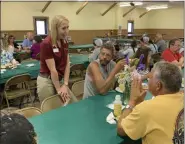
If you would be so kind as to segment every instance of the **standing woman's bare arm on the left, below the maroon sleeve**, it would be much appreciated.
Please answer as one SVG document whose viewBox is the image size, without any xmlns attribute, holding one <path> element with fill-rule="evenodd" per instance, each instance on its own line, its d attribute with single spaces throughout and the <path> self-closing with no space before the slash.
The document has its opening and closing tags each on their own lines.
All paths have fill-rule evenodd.
<svg viewBox="0 0 185 144">
<path fill-rule="evenodd" d="M 58 92 L 60 90 L 60 82 L 58 78 L 58 72 L 55 67 L 55 61 L 54 59 L 46 59 L 46 64 L 50 70 L 51 73 L 51 80 L 55 86 L 56 91 Z"/>
</svg>

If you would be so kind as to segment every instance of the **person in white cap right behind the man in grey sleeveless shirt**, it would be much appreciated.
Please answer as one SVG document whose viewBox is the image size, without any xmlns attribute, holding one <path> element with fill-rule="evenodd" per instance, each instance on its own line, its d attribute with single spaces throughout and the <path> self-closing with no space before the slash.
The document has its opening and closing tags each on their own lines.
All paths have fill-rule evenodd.
<svg viewBox="0 0 185 144">
<path fill-rule="evenodd" d="M 89 56 L 90 62 L 98 59 L 98 55 L 100 54 L 100 48 L 103 45 L 103 41 L 101 39 L 97 39 L 95 40 L 94 45 L 95 45 L 95 49 L 93 53 Z"/>
</svg>

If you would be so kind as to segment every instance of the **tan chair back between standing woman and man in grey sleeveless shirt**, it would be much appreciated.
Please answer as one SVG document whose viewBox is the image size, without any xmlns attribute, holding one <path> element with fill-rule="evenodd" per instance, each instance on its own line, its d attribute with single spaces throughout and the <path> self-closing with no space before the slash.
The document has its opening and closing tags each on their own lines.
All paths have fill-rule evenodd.
<svg viewBox="0 0 185 144">
<path fill-rule="evenodd" d="M 84 80 L 75 82 L 72 85 L 71 91 L 77 97 L 78 100 L 81 100 L 84 93 Z"/>
</svg>

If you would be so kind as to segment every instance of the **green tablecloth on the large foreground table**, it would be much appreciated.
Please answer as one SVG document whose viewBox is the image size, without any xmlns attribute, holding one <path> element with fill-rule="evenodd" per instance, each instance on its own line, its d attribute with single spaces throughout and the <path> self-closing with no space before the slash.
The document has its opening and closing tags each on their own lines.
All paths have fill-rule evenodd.
<svg viewBox="0 0 185 144">
<path fill-rule="evenodd" d="M 114 101 L 116 92 L 93 96 L 30 118 L 39 144 L 119 144 L 116 125 L 106 122 L 112 111 L 106 107 Z M 150 99 L 151 95 L 147 95 Z"/>
</svg>

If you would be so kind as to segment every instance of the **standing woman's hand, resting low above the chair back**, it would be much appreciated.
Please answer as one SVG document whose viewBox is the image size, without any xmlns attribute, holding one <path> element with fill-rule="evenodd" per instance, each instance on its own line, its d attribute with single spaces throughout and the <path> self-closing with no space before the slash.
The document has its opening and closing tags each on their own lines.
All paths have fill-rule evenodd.
<svg viewBox="0 0 185 144">
<path fill-rule="evenodd" d="M 58 90 L 58 94 L 60 94 L 63 103 L 67 102 L 70 99 L 68 87 L 66 85 L 61 86 L 61 88 Z"/>
</svg>

